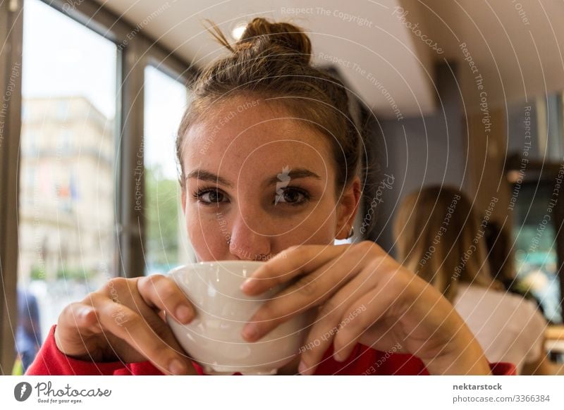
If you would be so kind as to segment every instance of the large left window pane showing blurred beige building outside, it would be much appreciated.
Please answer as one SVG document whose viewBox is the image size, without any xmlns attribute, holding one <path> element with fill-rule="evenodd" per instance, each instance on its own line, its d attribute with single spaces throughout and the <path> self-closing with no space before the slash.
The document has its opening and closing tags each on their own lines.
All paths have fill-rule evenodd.
<svg viewBox="0 0 564 410">
<path fill-rule="evenodd" d="M 25 0 L 16 349 L 114 275 L 116 46 Z"/>
</svg>

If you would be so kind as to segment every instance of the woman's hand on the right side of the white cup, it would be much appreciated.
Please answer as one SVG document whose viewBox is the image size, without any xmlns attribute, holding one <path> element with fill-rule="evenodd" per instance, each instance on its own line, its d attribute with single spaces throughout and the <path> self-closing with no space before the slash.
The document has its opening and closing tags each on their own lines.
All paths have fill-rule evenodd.
<svg viewBox="0 0 564 410">
<path fill-rule="evenodd" d="M 302 374 L 314 373 L 331 343 L 334 359 L 344 361 L 357 342 L 413 354 L 431 374 L 491 374 L 482 348 L 453 306 L 374 242 L 290 247 L 257 269 L 242 290 L 260 294 L 296 277 L 255 313 L 243 337 L 259 340 L 320 306 L 304 344 L 308 348 L 300 349 Z"/>
</svg>

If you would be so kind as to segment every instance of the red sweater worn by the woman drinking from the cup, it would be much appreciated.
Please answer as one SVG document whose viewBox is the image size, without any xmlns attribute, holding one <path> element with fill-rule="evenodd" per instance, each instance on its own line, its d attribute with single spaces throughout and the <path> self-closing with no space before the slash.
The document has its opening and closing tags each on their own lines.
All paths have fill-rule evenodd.
<svg viewBox="0 0 564 410">
<path fill-rule="evenodd" d="M 149 361 L 124 364 L 121 361 L 97 363 L 73 359 L 63 354 L 55 343 L 56 325 L 51 327 L 26 375 L 162 375 Z M 385 353 L 357 344 L 350 357 L 340 363 L 333 360 L 333 347 L 324 354 L 315 375 L 428 375 L 423 362 L 411 354 Z M 202 368 L 192 362 L 199 375 Z M 508 363 L 490 364 L 494 375 L 515 375 L 515 366 Z M 234 373 L 240 375 L 240 373 Z"/>
</svg>

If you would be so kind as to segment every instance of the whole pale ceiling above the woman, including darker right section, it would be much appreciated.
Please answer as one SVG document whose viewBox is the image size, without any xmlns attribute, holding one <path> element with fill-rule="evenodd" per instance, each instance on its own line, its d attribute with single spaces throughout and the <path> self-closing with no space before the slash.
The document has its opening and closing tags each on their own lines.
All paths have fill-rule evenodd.
<svg viewBox="0 0 564 410">
<path fill-rule="evenodd" d="M 474 111 L 479 93 L 460 42 L 467 43 L 485 79 L 491 106 L 525 99 L 525 90 L 527 98 L 543 94 L 545 84 L 563 89 L 564 3 L 519 1 L 111 0 L 104 6 L 133 25 L 145 20 L 143 32 L 199 67 L 228 52 L 205 30 L 206 18 L 226 35 L 257 16 L 293 22 L 312 39 L 316 63 L 340 58 L 337 66 L 353 92 L 379 116 L 395 118 L 393 102 L 404 117 L 434 111 L 432 65 L 444 58 L 459 62 L 466 109 Z M 403 20 L 399 6 L 408 11 Z M 443 54 L 424 44 L 407 22 L 418 24 Z"/>
</svg>

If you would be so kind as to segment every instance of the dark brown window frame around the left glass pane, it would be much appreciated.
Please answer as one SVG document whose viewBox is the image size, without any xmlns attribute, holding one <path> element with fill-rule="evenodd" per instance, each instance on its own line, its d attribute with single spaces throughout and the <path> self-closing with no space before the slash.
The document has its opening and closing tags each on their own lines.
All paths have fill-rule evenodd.
<svg viewBox="0 0 564 410">
<path fill-rule="evenodd" d="M 10 67 L 22 63 L 23 1 L 0 2 L 0 44 L 7 52 L 0 54 L 0 86 L 6 90 Z M 114 42 L 116 52 L 116 180 L 114 181 L 116 275 L 133 278 L 145 271 L 143 242 L 145 220 L 135 211 L 135 175 L 137 152 L 142 147 L 144 130 L 143 85 L 145 66 L 151 65 L 175 80 L 188 85 L 198 74 L 192 63 L 168 50 L 156 39 L 139 32 L 133 25 L 94 0 L 41 0 L 102 37 Z M 135 33 L 135 35 L 132 35 Z M 130 38 L 132 37 L 132 38 Z M 3 50 L 4 51 L 4 50 Z M 21 77 L 21 76 L 20 76 Z M 16 82 L 4 124 L 0 147 L 0 292 L 6 302 L 0 304 L 0 344 L 14 343 L 17 323 L 16 285 L 18 282 L 18 178 L 21 131 L 21 80 Z M 8 137 L 9 143 L 8 143 Z M 141 177 L 142 178 L 142 177 Z M 140 181 L 144 186 L 145 181 Z M 141 207 L 142 209 L 142 207 Z M 0 352 L 0 374 L 10 374 L 15 359 L 13 349 Z"/>
</svg>

